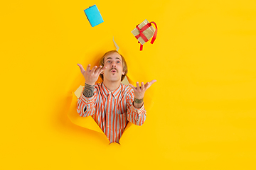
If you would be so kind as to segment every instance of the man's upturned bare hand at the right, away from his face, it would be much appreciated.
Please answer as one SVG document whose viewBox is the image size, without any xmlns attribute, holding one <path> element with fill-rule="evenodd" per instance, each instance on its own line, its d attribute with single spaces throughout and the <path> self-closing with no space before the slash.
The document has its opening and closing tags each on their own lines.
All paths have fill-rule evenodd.
<svg viewBox="0 0 256 170">
<path fill-rule="evenodd" d="M 132 89 L 134 89 L 134 98 L 135 100 L 142 100 L 144 98 L 144 94 L 146 89 L 149 89 L 149 87 L 154 84 L 154 82 L 156 82 L 156 80 L 152 80 L 150 82 L 147 82 L 145 85 L 142 82 L 142 86 L 139 86 L 139 82 L 137 82 L 137 87 L 133 86 L 132 84 L 129 84 L 129 86 L 132 87 Z"/>
</svg>

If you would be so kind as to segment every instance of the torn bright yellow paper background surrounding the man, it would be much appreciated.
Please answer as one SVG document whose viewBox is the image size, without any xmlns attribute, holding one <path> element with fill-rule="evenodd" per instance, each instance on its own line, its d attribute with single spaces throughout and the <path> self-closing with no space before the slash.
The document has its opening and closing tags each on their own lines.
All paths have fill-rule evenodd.
<svg viewBox="0 0 256 170">
<path fill-rule="evenodd" d="M 83 10 L 94 4 L 104 23 L 92 28 Z M 14 0 L 0 8 L 1 169 L 256 168 L 255 1 Z M 131 31 L 144 19 L 159 32 L 140 52 Z M 84 82 L 76 64 L 115 50 L 113 36 L 129 78 L 157 80 L 146 92 L 146 122 L 121 146 L 67 116 L 71 91 Z"/>
</svg>

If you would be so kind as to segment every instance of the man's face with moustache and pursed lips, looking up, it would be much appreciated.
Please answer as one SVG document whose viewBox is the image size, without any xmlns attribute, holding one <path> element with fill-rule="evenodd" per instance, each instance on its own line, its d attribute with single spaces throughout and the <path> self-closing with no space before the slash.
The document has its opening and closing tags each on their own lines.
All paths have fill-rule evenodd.
<svg viewBox="0 0 256 170">
<path fill-rule="evenodd" d="M 107 67 L 103 72 L 104 80 L 119 81 L 124 75 L 122 57 L 117 52 L 105 56 L 104 67 Z"/>
</svg>

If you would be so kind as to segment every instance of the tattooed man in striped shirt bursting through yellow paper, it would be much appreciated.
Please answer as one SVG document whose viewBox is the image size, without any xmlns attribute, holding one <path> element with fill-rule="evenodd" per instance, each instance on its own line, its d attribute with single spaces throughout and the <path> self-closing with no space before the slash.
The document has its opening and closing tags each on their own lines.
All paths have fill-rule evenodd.
<svg viewBox="0 0 256 170">
<path fill-rule="evenodd" d="M 121 81 L 127 74 L 127 63 L 116 50 L 106 52 L 100 60 L 100 66 L 83 69 L 78 64 L 85 77 L 85 88 L 78 98 L 77 111 L 80 116 L 92 115 L 97 125 L 107 136 L 110 143 L 117 142 L 124 132 L 128 121 L 134 125 L 142 125 L 146 120 L 143 98 L 146 89 L 156 80 L 137 87 L 124 85 Z M 95 84 L 98 77 L 102 84 Z"/>
</svg>

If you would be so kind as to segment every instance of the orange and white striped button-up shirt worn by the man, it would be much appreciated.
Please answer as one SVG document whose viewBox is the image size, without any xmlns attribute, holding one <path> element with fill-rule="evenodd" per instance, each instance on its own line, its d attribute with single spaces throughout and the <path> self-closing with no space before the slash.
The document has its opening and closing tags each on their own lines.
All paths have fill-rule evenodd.
<svg viewBox="0 0 256 170">
<path fill-rule="evenodd" d="M 103 83 L 95 84 L 92 97 L 81 94 L 78 98 L 77 111 L 82 117 L 92 115 L 110 143 L 119 143 L 128 121 L 142 125 L 146 120 L 144 105 L 135 108 L 133 101 L 134 91 L 127 85 L 120 84 L 116 90 L 110 91 Z"/>
</svg>

